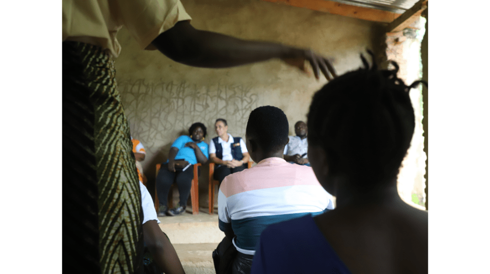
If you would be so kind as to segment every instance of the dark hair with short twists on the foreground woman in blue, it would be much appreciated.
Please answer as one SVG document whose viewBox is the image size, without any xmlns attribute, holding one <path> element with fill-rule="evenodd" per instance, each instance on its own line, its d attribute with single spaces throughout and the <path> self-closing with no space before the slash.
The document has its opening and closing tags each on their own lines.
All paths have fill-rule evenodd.
<svg viewBox="0 0 490 274">
<path fill-rule="evenodd" d="M 372 52 L 368 51 L 371 56 Z M 361 54 L 359 68 L 327 83 L 313 96 L 308 142 L 325 151 L 329 173 L 343 175 L 359 190 L 396 178 L 415 129 L 409 91 L 394 70 L 378 70 Z M 373 58 L 374 59 L 374 58 Z"/>
</svg>

